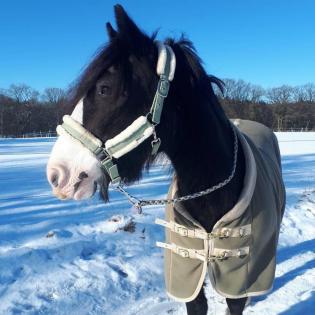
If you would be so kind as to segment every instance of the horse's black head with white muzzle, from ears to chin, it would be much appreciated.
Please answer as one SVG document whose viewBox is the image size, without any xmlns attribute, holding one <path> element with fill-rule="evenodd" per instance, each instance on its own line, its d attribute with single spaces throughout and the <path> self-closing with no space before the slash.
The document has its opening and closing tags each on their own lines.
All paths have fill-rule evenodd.
<svg viewBox="0 0 315 315">
<path fill-rule="evenodd" d="M 166 51 L 163 44 L 159 46 L 155 35 L 149 37 L 140 31 L 119 5 L 115 6 L 115 17 L 117 30 L 110 23 L 106 24 L 109 42 L 73 86 L 66 114 L 71 115 L 67 119 L 72 127 L 75 125 L 74 129 L 83 127 L 81 136 L 88 133 L 94 140 L 100 141 L 100 147 L 108 144 L 108 140 L 117 144 L 123 131 L 124 137 L 128 138 L 130 129 L 133 129 L 132 132 L 135 129 L 136 133 L 139 128 L 144 129 L 146 136 L 141 134 L 139 145 L 131 144 L 132 150 L 123 149 L 127 151 L 124 154 L 110 154 L 119 178 L 131 183 L 141 177 L 143 167 L 154 159 L 152 141 L 162 140 L 162 145 L 155 150 L 161 152 L 166 144 L 164 140 L 171 139 L 173 133 L 176 109 L 169 106 L 172 91 L 162 113 L 159 113 L 162 114 L 161 123 L 152 122 L 150 117 L 152 102 L 161 81 L 160 74 L 163 75 L 163 69 L 159 68 L 163 68 L 166 62 L 161 61 L 165 56 L 160 56 L 162 52 L 173 52 L 170 48 Z M 169 74 L 172 79 L 175 59 L 173 55 L 169 59 L 173 62 L 169 65 L 172 69 L 168 69 L 173 71 Z M 64 124 L 67 119 L 64 118 Z M 69 130 L 58 128 L 59 137 L 47 165 L 47 178 L 53 193 L 60 199 L 80 200 L 91 197 L 99 185 L 101 196 L 107 200 L 108 184 L 112 178 L 101 159 L 82 143 L 82 137 L 75 139 Z"/>
</svg>

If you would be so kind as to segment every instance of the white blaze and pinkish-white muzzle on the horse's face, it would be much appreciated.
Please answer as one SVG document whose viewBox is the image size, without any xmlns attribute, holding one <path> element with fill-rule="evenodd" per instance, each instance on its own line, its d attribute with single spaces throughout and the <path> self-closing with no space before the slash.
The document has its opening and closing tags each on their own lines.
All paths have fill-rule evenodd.
<svg viewBox="0 0 315 315">
<path fill-rule="evenodd" d="M 71 117 L 83 123 L 83 99 L 76 105 Z M 53 193 L 60 199 L 89 198 L 94 194 L 95 182 L 101 175 L 96 157 L 78 140 L 62 132 L 47 164 L 47 178 Z"/>
</svg>

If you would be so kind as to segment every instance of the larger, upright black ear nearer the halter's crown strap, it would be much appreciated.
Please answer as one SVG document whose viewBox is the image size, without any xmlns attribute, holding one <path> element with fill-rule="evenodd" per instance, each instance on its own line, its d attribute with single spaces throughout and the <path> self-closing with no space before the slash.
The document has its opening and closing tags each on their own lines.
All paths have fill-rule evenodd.
<svg viewBox="0 0 315 315">
<path fill-rule="evenodd" d="M 140 31 L 121 5 L 115 5 L 114 10 L 118 33 L 122 38 L 126 39 L 129 43 L 137 43 L 141 39 L 147 39 L 147 36 Z"/>
</svg>

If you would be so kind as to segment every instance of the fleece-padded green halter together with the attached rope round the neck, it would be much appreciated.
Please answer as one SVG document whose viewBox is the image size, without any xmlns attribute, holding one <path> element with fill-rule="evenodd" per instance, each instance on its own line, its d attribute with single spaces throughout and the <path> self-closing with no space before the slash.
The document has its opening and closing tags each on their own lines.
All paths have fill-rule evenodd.
<svg viewBox="0 0 315 315">
<path fill-rule="evenodd" d="M 172 199 L 139 200 L 130 195 L 123 188 L 123 182 L 119 175 L 118 166 L 115 163 L 115 160 L 137 148 L 151 136 L 153 137 L 151 141 L 151 154 L 155 155 L 161 144 L 161 139 L 156 135 L 155 127 L 160 123 L 164 100 L 168 95 L 170 82 L 174 78 L 176 58 L 170 46 L 165 45 L 162 42 L 156 42 L 156 45 L 159 54 L 156 72 L 160 78 L 150 112 L 147 115 L 138 117 L 126 129 L 104 143 L 83 127 L 83 99 L 81 99 L 73 110 L 71 116 L 63 116 L 63 124 L 57 126 L 57 134 L 59 136 L 62 134 L 70 135 L 96 156 L 100 161 L 101 167 L 109 175 L 111 184 L 114 188 L 124 194 L 139 212 L 141 212 L 142 206 L 146 205 L 174 204 L 176 202 L 208 195 L 213 191 L 224 187 L 232 180 L 237 165 L 238 138 L 235 127 L 231 124 L 234 136 L 233 167 L 229 177 L 222 182 L 203 191 Z"/>
</svg>

